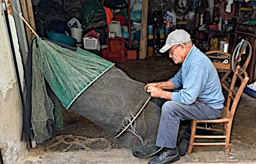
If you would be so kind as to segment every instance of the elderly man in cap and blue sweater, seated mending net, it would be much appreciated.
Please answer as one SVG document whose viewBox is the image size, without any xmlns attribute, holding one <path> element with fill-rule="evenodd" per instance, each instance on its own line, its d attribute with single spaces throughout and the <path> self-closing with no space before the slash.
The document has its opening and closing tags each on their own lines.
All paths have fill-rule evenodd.
<svg viewBox="0 0 256 164">
<path fill-rule="evenodd" d="M 174 63 L 182 65 L 169 81 L 145 86 L 152 97 L 168 100 L 162 106 L 156 142 L 157 147 L 165 150 L 148 164 L 169 164 L 180 159 L 176 146 L 180 120 L 216 119 L 224 107 L 217 71 L 209 58 L 192 44 L 190 35 L 184 30 L 173 31 L 160 52 L 167 50 Z"/>
</svg>

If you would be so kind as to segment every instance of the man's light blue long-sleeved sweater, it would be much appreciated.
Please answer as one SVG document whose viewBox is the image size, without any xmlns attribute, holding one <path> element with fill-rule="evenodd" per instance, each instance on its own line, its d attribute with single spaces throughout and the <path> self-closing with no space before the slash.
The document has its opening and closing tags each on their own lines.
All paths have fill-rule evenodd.
<svg viewBox="0 0 256 164">
<path fill-rule="evenodd" d="M 224 96 L 217 70 L 211 60 L 194 45 L 185 58 L 179 72 L 170 79 L 179 92 L 172 93 L 172 100 L 190 105 L 204 101 L 215 109 L 223 108 Z"/>
</svg>

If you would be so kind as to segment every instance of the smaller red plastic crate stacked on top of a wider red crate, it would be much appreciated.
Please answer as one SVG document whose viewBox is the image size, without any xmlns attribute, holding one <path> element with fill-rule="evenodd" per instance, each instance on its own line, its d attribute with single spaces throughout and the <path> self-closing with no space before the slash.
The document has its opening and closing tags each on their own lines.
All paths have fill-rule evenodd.
<svg viewBox="0 0 256 164">
<path fill-rule="evenodd" d="M 125 49 L 125 38 L 108 38 L 108 52 L 119 52 L 122 49 Z"/>
</svg>

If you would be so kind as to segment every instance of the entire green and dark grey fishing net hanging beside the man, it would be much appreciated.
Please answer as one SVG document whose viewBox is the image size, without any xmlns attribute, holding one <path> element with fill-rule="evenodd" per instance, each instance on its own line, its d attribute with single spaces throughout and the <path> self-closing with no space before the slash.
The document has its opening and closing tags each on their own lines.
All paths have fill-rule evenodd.
<svg viewBox="0 0 256 164">
<path fill-rule="evenodd" d="M 148 101 L 150 95 L 144 91 L 143 83 L 132 80 L 97 55 L 81 49 L 73 51 L 41 38 L 33 42 L 32 56 L 31 123 L 39 143 L 51 136 L 51 124 L 58 118 L 53 115 L 47 83 L 66 109 L 113 136 L 131 123 L 118 138 L 134 156 L 148 157 L 161 150 L 155 146 L 160 108 Z"/>
</svg>

